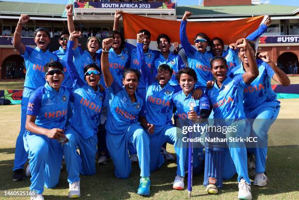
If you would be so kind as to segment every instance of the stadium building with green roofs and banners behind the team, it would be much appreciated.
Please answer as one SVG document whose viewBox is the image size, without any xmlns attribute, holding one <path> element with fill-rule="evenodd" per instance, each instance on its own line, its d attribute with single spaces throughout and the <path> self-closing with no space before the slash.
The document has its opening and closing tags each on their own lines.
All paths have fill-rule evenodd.
<svg viewBox="0 0 299 200">
<path fill-rule="evenodd" d="M 31 19 L 21 32 L 22 42 L 34 47 L 34 30 L 43 26 L 51 35 L 49 49 L 55 51 L 59 48 L 59 32 L 67 29 L 64 6 L 63 4 L 0 1 L 0 80 L 24 78 L 23 59 L 12 45 L 12 34 L 20 15 L 28 14 Z M 260 38 L 258 52 L 268 51 L 278 66 L 285 69 L 289 61 L 298 61 L 299 8 L 296 6 L 261 4 L 259 0 L 220 2 L 203 0 L 203 5 L 200 6 L 175 6 L 174 1 L 167 0 L 74 2 L 75 27 L 84 35 L 81 42 L 85 43 L 89 36 L 105 38 L 113 28 L 116 9 L 165 20 L 181 20 L 185 10 L 188 10 L 193 13 L 189 21 L 194 22 L 237 20 L 269 15 L 272 18 L 272 25 Z"/>
</svg>

